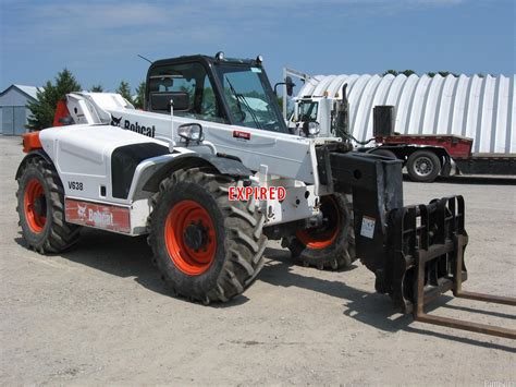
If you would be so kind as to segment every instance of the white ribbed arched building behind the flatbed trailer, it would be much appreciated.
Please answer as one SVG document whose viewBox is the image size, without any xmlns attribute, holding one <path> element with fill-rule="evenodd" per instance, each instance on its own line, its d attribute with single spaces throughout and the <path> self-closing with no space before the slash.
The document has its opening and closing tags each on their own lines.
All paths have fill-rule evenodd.
<svg viewBox="0 0 516 387">
<path fill-rule="evenodd" d="M 392 105 L 395 131 L 474 138 L 474 153 L 516 153 L 515 78 L 435 75 L 318 75 L 298 96 L 329 97 L 347 83 L 349 126 L 358 140 L 372 136 L 372 108 Z"/>
</svg>

